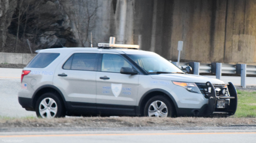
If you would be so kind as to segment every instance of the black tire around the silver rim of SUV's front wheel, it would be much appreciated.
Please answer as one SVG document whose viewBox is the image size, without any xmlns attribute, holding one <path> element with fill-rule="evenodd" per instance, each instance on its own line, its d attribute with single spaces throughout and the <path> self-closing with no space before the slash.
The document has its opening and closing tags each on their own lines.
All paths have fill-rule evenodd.
<svg viewBox="0 0 256 143">
<path fill-rule="evenodd" d="M 165 115 L 166 115 L 166 113 L 167 113 L 167 116 L 166 117 L 174 117 L 174 110 L 173 110 L 173 106 L 172 106 L 172 103 L 170 103 L 170 101 L 166 98 L 166 97 L 164 97 L 164 96 L 160 96 L 160 95 L 158 95 L 158 96 L 154 96 L 154 97 L 152 97 L 151 99 L 149 99 L 147 102 L 146 102 L 146 104 L 145 104 L 145 107 L 144 107 L 144 116 L 145 117 L 148 117 L 149 115 L 148 115 L 148 112 L 150 111 L 150 110 L 153 110 L 154 109 L 154 107 L 151 105 L 151 104 L 153 104 L 153 103 L 157 103 L 157 104 L 162 104 L 161 102 L 163 102 L 165 105 L 166 105 L 166 108 L 164 108 L 162 111 L 160 111 L 160 110 L 157 110 L 156 112 L 158 112 L 158 117 L 163 117 L 162 115 L 164 115 L 163 113 L 165 112 Z M 163 104 L 163 105 L 164 105 Z M 151 109 L 149 110 L 149 108 L 150 108 L 150 106 L 151 106 Z M 158 106 L 158 105 L 157 105 Z M 161 107 L 161 106 L 160 106 Z M 167 109 L 167 111 L 166 111 L 166 109 Z M 152 112 L 153 113 L 153 112 Z M 165 116 L 164 115 L 164 116 Z M 150 116 L 150 117 L 156 117 L 156 116 Z"/>
</svg>

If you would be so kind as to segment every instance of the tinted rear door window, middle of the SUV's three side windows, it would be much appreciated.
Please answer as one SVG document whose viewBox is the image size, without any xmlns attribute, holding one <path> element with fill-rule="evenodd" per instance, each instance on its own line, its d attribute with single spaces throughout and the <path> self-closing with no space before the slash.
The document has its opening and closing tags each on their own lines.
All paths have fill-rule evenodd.
<svg viewBox="0 0 256 143">
<path fill-rule="evenodd" d="M 66 70 L 94 71 L 97 53 L 74 53 L 63 65 Z"/>
</svg>

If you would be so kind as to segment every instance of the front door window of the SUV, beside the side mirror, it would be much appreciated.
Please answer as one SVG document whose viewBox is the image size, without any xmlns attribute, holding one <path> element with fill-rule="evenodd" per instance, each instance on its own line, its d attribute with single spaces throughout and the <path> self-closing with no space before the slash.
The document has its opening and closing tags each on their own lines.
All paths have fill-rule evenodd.
<svg viewBox="0 0 256 143">
<path fill-rule="evenodd" d="M 101 71 L 120 73 L 122 67 L 132 68 L 129 63 L 117 54 L 103 54 Z"/>
</svg>

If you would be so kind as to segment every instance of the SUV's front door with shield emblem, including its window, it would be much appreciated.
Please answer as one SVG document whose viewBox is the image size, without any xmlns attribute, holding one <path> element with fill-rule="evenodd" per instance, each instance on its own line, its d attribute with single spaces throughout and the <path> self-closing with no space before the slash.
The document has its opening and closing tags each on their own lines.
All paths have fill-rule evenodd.
<svg viewBox="0 0 256 143">
<path fill-rule="evenodd" d="M 97 106 L 101 113 L 119 114 L 121 109 L 132 114 L 138 93 L 138 75 L 121 74 L 122 67 L 133 68 L 131 63 L 116 52 L 101 54 L 100 70 L 97 72 Z M 118 113 L 119 112 L 119 113 Z"/>
</svg>

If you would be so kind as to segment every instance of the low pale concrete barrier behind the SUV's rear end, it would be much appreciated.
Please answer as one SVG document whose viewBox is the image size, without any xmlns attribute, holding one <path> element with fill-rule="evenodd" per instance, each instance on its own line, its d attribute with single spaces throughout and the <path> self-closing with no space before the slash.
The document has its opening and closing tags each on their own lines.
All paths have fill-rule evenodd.
<svg viewBox="0 0 256 143">
<path fill-rule="evenodd" d="M 27 65 L 36 54 L 0 52 L 0 64 L 24 64 Z"/>
</svg>

